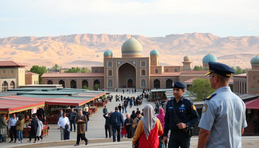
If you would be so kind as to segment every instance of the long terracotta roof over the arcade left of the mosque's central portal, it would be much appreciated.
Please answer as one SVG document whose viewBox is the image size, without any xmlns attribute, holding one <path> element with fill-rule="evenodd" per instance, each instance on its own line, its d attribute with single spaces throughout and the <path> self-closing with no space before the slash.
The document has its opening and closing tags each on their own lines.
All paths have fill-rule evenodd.
<svg viewBox="0 0 259 148">
<path fill-rule="evenodd" d="M 104 77 L 104 73 L 44 73 L 41 77 Z"/>
</svg>

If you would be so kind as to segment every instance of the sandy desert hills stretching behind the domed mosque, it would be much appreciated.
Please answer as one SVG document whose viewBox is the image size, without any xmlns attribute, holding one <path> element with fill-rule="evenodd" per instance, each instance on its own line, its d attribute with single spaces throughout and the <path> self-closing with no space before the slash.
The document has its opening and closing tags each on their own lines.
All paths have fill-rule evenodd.
<svg viewBox="0 0 259 148">
<path fill-rule="evenodd" d="M 189 55 L 192 66 L 201 65 L 211 52 L 219 62 L 230 66 L 250 67 L 250 59 L 259 52 L 258 36 L 218 37 L 211 33 L 170 34 L 165 37 L 133 35 L 143 47 L 143 57 L 156 48 L 161 65 L 182 65 Z M 28 65 L 62 67 L 103 66 L 103 52 L 109 48 L 113 57 L 121 57 L 121 45 L 129 34 L 72 34 L 58 37 L 0 38 L 0 59 Z M 97 57 L 99 55 L 99 57 Z M 96 62 L 95 62 L 96 61 Z"/>
</svg>

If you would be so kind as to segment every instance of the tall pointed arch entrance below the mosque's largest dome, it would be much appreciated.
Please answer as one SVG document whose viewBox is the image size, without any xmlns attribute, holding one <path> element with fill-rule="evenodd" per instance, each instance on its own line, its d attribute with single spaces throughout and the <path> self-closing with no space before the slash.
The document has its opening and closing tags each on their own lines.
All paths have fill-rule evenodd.
<svg viewBox="0 0 259 148">
<path fill-rule="evenodd" d="M 118 88 L 127 88 L 137 87 L 136 84 L 136 68 L 128 62 L 120 65 L 118 67 Z"/>
</svg>

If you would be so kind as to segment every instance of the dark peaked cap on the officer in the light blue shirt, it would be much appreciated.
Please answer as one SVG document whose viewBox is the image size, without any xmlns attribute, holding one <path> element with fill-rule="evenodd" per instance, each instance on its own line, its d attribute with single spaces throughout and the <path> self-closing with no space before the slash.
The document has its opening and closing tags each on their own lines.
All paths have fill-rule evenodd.
<svg viewBox="0 0 259 148">
<path fill-rule="evenodd" d="M 209 62 L 209 72 L 206 73 L 206 75 L 209 75 L 211 73 L 215 73 L 224 77 L 230 77 L 231 74 L 235 73 L 235 71 L 225 64 L 218 62 Z"/>
</svg>

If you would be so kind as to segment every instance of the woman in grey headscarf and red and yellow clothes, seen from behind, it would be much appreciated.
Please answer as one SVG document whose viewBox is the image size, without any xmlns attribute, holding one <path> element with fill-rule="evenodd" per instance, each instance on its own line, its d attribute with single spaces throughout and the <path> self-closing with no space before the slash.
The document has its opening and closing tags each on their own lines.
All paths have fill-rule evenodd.
<svg viewBox="0 0 259 148">
<path fill-rule="evenodd" d="M 158 136 L 163 135 L 162 125 L 156 117 L 153 116 L 154 109 L 150 104 L 144 107 L 144 116 L 139 121 L 132 140 L 132 147 L 139 139 L 139 148 L 159 147 Z"/>
</svg>

